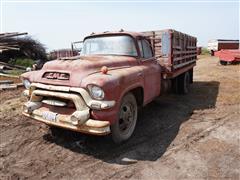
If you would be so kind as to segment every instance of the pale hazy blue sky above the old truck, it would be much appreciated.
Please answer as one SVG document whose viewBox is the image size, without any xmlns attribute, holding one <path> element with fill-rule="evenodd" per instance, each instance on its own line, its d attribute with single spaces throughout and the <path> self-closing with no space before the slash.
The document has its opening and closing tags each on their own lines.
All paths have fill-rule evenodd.
<svg viewBox="0 0 240 180">
<path fill-rule="evenodd" d="M 70 48 L 92 32 L 120 29 L 175 29 L 197 37 L 199 46 L 210 39 L 239 39 L 238 0 L 79 1 L 0 0 L 0 29 L 28 32 L 48 51 Z"/>
</svg>

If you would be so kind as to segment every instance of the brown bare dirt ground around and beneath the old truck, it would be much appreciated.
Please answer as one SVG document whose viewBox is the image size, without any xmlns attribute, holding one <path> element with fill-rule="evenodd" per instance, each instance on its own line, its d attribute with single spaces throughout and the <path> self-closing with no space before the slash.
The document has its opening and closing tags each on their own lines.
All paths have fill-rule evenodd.
<svg viewBox="0 0 240 180">
<path fill-rule="evenodd" d="M 1 93 L 0 179 L 240 179 L 240 66 L 202 56 L 188 95 L 158 98 L 133 137 L 49 128 L 21 115 L 21 89 Z"/>
</svg>

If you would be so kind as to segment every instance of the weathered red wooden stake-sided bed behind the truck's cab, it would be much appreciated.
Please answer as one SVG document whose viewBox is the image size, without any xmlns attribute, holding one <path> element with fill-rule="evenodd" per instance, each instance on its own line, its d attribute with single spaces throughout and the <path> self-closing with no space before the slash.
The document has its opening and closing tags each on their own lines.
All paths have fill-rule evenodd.
<svg viewBox="0 0 240 180">
<path fill-rule="evenodd" d="M 166 78 L 175 77 L 196 65 L 197 39 L 173 29 L 142 32 L 150 39 Z"/>
</svg>

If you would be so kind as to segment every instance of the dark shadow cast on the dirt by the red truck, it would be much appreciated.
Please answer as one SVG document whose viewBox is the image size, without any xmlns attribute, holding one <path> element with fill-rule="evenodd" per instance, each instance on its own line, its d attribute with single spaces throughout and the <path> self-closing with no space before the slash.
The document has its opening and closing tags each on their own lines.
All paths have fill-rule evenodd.
<svg viewBox="0 0 240 180">
<path fill-rule="evenodd" d="M 139 113 L 133 137 L 116 145 L 110 137 L 96 137 L 63 130 L 44 139 L 71 151 L 93 156 L 108 163 L 129 164 L 137 161 L 155 161 L 169 148 L 183 122 L 194 111 L 214 108 L 219 82 L 194 82 L 188 95 L 169 94 L 148 104 Z"/>
</svg>

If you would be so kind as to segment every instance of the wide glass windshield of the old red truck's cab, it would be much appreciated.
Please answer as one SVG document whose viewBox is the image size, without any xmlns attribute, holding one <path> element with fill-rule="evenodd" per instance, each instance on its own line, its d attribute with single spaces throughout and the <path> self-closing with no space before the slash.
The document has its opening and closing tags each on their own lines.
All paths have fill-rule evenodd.
<svg viewBox="0 0 240 180">
<path fill-rule="evenodd" d="M 137 56 L 137 50 L 130 36 L 103 36 L 84 41 L 81 55 L 94 54 Z"/>
</svg>

